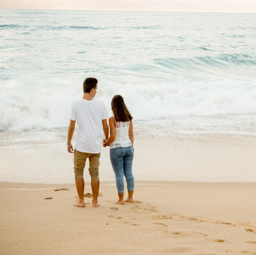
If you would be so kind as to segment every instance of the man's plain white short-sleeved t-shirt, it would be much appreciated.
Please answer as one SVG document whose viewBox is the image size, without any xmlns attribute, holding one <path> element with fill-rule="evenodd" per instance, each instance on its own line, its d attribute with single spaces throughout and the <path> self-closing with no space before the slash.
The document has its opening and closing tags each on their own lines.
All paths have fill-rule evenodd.
<svg viewBox="0 0 256 255">
<path fill-rule="evenodd" d="M 102 120 L 107 118 L 104 102 L 83 98 L 73 101 L 70 119 L 77 121 L 79 126 L 75 149 L 85 153 L 100 153 Z"/>
</svg>

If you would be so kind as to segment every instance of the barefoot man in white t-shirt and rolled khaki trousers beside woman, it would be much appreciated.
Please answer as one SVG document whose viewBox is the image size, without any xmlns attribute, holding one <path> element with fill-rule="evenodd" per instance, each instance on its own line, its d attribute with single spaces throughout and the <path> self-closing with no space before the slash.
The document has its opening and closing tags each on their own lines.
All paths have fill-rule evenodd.
<svg viewBox="0 0 256 255">
<path fill-rule="evenodd" d="M 92 185 L 92 206 L 98 207 L 98 166 L 102 146 L 101 125 L 108 139 L 108 113 L 103 102 L 97 101 L 94 96 L 97 93 L 96 78 L 86 78 L 83 83 L 84 96 L 72 102 L 71 120 L 68 128 L 67 151 L 74 153 L 74 172 L 79 196 L 79 202 L 74 204 L 78 207 L 85 207 L 84 202 L 84 168 L 85 161 L 89 159 L 89 173 L 91 175 Z M 73 150 L 71 140 L 74 134 L 75 123 L 78 123 L 79 129 L 76 138 L 75 149 Z"/>
</svg>

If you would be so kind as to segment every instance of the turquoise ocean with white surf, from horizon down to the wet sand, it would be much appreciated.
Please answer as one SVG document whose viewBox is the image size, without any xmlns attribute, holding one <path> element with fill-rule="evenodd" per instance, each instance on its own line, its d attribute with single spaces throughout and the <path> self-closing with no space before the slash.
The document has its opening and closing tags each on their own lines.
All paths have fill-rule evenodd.
<svg viewBox="0 0 256 255">
<path fill-rule="evenodd" d="M 256 13 L 1 9 L 0 146 L 68 127 L 86 77 L 135 134 L 255 136 Z"/>
</svg>

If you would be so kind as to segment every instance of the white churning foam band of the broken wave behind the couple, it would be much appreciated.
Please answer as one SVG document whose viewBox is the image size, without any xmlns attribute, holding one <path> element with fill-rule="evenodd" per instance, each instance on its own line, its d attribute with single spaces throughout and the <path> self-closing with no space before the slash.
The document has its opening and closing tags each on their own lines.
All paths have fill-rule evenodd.
<svg viewBox="0 0 256 255">
<path fill-rule="evenodd" d="M 256 113 L 256 81 L 214 83 L 126 84 L 99 87 L 96 99 L 109 115 L 112 96 L 125 99 L 134 120 L 154 120 L 187 115 Z M 15 92 L 0 98 L 0 130 L 22 131 L 67 127 L 71 103 L 82 97 L 82 88 L 26 94 Z"/>
</svg>

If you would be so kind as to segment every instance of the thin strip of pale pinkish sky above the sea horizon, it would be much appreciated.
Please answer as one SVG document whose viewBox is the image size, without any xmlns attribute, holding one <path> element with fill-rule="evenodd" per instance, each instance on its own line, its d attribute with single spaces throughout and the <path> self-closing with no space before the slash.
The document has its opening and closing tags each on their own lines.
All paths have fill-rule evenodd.
<svg viewBox="0 0 256 255">
<path fill-rule="evenodd" d="M 256 13 L 256 0 L 0 0 L 0 8 Z"/>
</svg>

